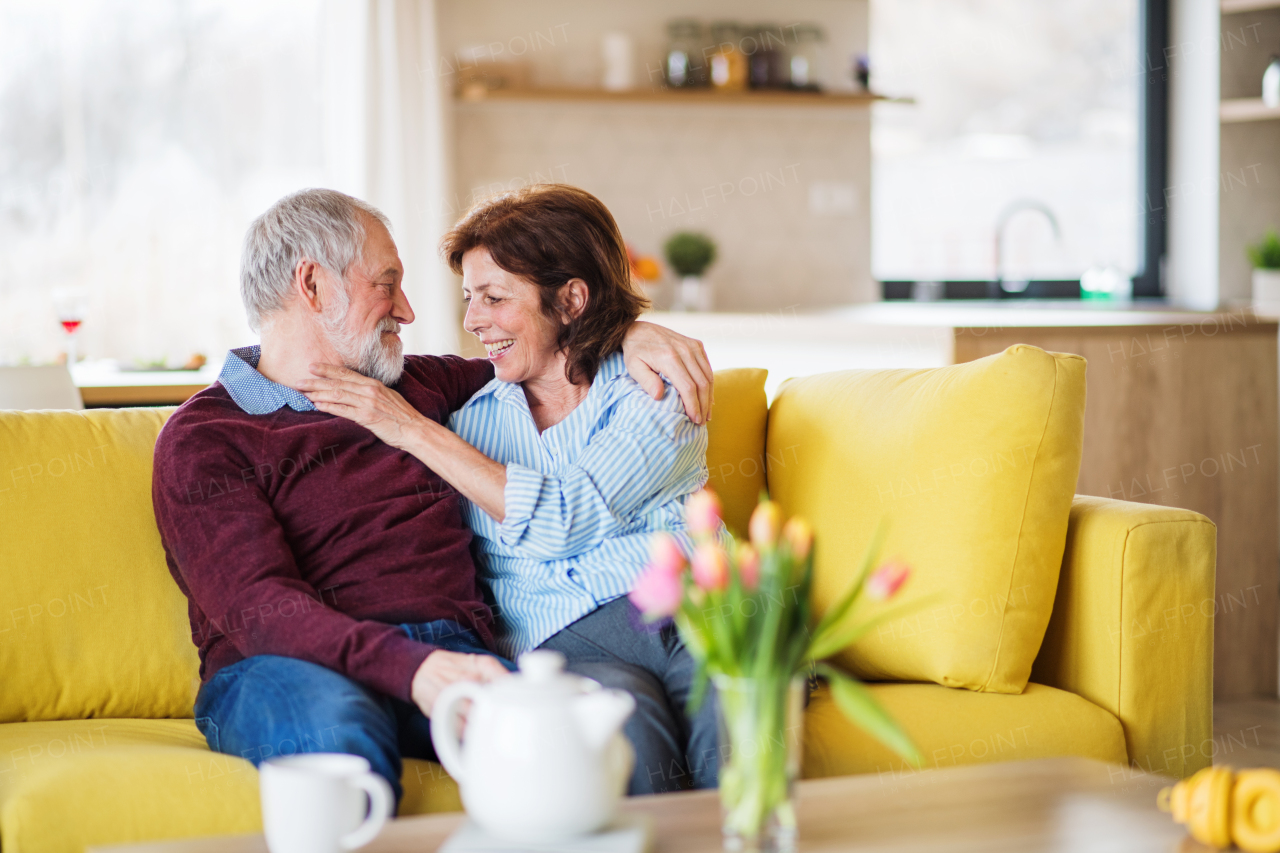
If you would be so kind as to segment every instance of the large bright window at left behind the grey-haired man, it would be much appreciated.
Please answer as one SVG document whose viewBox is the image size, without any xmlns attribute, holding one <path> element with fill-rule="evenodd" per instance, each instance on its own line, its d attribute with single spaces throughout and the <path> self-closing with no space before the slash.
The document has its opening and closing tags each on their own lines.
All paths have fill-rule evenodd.
<svg viewBox="0 0 1280 853">
<path fill-rule="evenodd" d="M 250 339 L 246 223 L 323 182 L 319 0 L 0 4 L 0 362 Z"/>
</svg>

